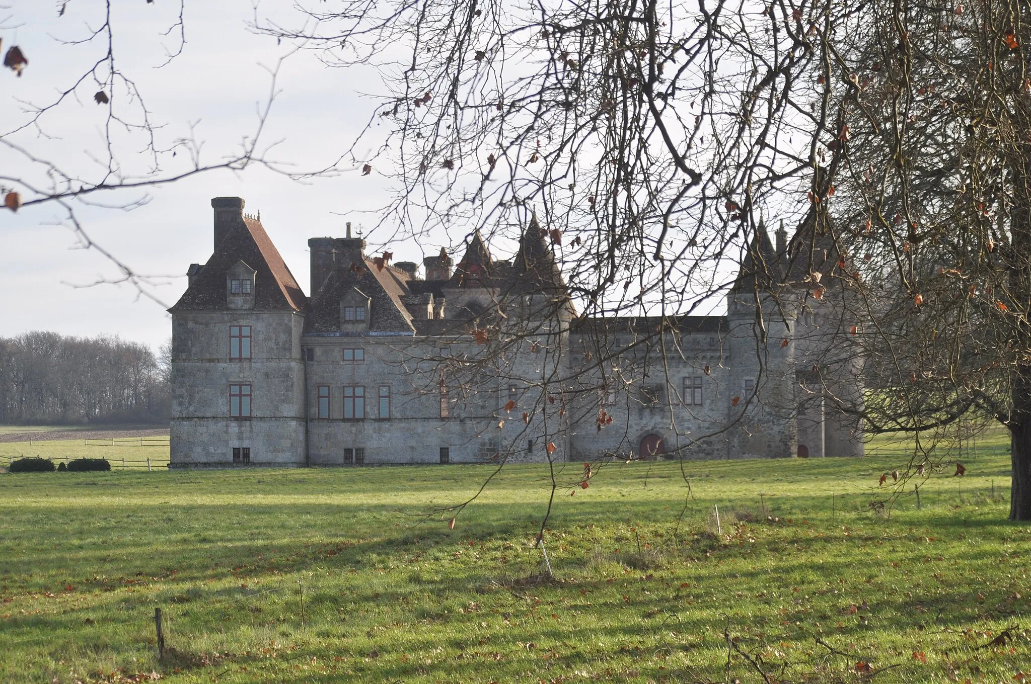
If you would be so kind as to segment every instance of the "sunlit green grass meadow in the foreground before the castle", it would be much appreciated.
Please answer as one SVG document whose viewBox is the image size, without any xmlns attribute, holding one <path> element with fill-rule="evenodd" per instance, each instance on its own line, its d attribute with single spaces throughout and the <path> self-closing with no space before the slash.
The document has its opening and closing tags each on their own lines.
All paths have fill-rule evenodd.
<svg viewBox="0 0 1031 684">
<path fill-rule="evenodd" d="M 554 581 L 545 467 L 454 529 L 421 514 L 484 467 L 4 475 L 0 681 L 1011 684 L 1031 527 L 1005 521 L 1001 439 L 979 446 L 890 516 L 885 445 L 688 463 L 687 500 L 677 464 L 606 466 L 557 498 Z"/>
</svg>

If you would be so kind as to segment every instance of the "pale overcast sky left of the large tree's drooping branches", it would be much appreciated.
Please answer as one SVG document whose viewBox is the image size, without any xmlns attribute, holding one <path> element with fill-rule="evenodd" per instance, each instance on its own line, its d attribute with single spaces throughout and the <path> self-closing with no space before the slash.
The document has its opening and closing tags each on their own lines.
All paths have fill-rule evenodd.
<svg viewBox="0 0 1031 684">
<path fill-rule="evenodd" d="M 54 37 L 80 38 L 87 26 L 102 21 L 99 0 L 72 0 L 58 18 L 54 0 L 5 0 L 0 9 L 3 50 L 14 44 L 29 60 L 24 75 L 0 73 L 0 128 L 6 133 L 26 121 L 18 100 L 43 104 L 68 88 L 98 57 L 99 48 L 62 46 Z M 218 160 L 238 147 L 242 135 L 255 130 L 256 109 L 269 91 L 272 67 L 287 54 L 274 38 L 255 35 L 246 22 L 254 16 L 251 0 L 190 2 L 186 8 L 187 45 L 184 54 L 162 68 L 173 37 L 160 33 L 174 23 L 173 0 L 114 3 L 117 58 L 146 99 L 154 119 L 165 126 L 164 140 L 186 136 L 196 124 L 195 136 L 204 143 L 205 159 Z M 280 19 L 298 19 L 288 2 L 273 7 Z M 269 3 L 259 7 L 268 14 Z M 282 65 L 280 93 L 272 105 L 264 140 L 281 140 L 270 156 L 299 169 L 319 168 L 334 161 L 355 138 L 373 109 L 365 94 L 381 87 L 374 74 L 328 69 L 310 54 L 295 54 Z M 16 140 L 47 159 L 87 169 L 87 152 L 102 152 L 104 107 L 92 101 L 95 87 L 79 89 L 79 101 L 70 100 L 44 119 L 43 139 L 23 132 Z M 138 161 L 141 141 L 127 141 L 120 152 L 126 167 Z M 10 150 L 0 148 L 0 168 L 23 166 Z M 172 167 L 169 167 L 172 168 Z M 89 169 L 87 169 L 89 170 Z M 10 175 L 14 175 L 11 173 Z M 214 171 L 189 180 L 148 190 L 94 196 L 112 205 L 137 199 L 145 204 L 131 211 L 80 207 L 91 236 L 139 272 L 181 276 L 191 262 L 203 263 L 211 252 L 210 199 L 239 196 L 248 213 L 260 210 L 262 223 L 305 290 L 308 288 L 306 242 L 309 237 L 342 236 L 346 220 L 371 224 L 362 211 L 374 210 L 387 199 L 385 180 L 355 170 L 336 178 L 308 183 L 293 181 L 264 169 L 240 175 Z M 128 285 L 75 288 L 64 283 L 89 283 L 98 277 L 117 277 L 118 270 L 96 251 L 75 248 L 71 231 L 60 224 L 60 207 L 23 208 L 18 214 L 0 211 L 0 336 L 30 330 L 53 330 L 66 335 L 118 334 L 158 345 L 170 335 L 164 308 L 137 297 Z M 421 261 L 420 247 L 392 245 L 396 261 Z M 439 249 L 439 246 L 437 246 Z M 409 253 L 411 252 L 411 253 Z M 154 290 L 168 305 L 186 287 L 186 278 L 170 279 Z"/>
</svg>

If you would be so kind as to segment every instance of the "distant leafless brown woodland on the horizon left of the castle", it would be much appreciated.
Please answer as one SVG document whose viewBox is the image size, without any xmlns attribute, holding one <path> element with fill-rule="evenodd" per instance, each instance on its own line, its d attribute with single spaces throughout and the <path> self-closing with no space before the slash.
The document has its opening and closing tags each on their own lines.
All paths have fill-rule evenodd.
<svg viewBox="0 0 1031 684">
<path fill-rule="evenodd" d="M 0 337 L 0 423 L 156 422 L 170 408 L 167 352 L 118 337 Z"/>
</svg>

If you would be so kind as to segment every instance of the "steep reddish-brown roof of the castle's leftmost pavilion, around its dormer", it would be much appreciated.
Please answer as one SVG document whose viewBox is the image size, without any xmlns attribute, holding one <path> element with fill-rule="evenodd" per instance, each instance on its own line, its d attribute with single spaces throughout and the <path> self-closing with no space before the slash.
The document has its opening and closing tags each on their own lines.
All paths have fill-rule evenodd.
<svg viewBox="0 0 1031 684">
<path fill-rule="evenodd" d="M 171 309 L 214 311 L 226 308 L 226 272 L 244 262 L 256 271 L 256 311 L 303 311 L 307 298 L 272 244 L 261 221 L 241 216 L 219 243 L 200 273 Z"/>
</svg>

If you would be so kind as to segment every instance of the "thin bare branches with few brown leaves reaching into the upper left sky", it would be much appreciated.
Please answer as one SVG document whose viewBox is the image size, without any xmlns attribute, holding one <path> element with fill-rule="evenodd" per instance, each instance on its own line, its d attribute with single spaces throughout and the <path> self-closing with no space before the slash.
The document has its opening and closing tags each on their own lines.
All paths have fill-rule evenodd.
<svg viewBox="0 0 1031 684">
<path fill-rule="evenodd" d="M 79 245 L 102 253 L 118 271 L 115 277 L 92 284 L 129 283 L 159 304 L 163 303 L 151 286 L 167 282 L 168 276 L 139 273 L 108 246 L 94 241 L 80 218 L 81 208 L 133 209 L 145 204 L 148 189 L 218 170 L 241 172 L 264 166 L 285 171 L 282 165 L 268 159 L 272 143 L 266 142 L 264 134 L 277 92 L 278 65 L 270 70 L 269 90 L 254 129 L 241 133 L 235 147 L 225 152 L 204 152 L 203 141 L 194 135 L 192 126 L 185 134 L 169 134 L 161 113 L 148 106 L 146 74 L 175 60 L 186 48 L 185 10 L 186 0 L 179 0 L 174 19 L 146 27 L 156 39 L 170 44 L 162 64 L 141 64 L 129 47 L 141 30 L 129 7 L 111 0 L 57 3 L 55 11 L 67 33 L 53 37 L 53 46 L 74 49 L 82 66 L 71 72 L 67 82 L 52 83 L 55 94 L 40 102 L 28 101 L 20 86 L 34 78 L 34 63 L 45 57 L 27 54 L 18 44 L 0 45 L 4 94 L 21 114 L 6 119 L 0 128 L 0 148 L 6 150 L 0 196 L 6 208 L 18 211 L 36 205 L 55 206 Z M 16 36 L 13 29 L 22 35 L 42 30 L 25 23 L 16 10 L 0 15 L 0 35 Z M 86 142 L 85 149 L 48 144 L 60 136 L 54 130 L 60 117 L 74 116 L 76 110 L 90 106 L 104 111 L 98 143 Z"/>
</svg>

